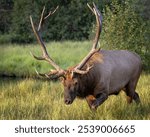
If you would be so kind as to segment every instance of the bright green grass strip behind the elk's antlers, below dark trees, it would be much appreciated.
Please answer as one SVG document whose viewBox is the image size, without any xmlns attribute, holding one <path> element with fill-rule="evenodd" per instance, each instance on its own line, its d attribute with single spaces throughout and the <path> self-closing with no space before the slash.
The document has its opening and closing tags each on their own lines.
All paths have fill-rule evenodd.
<svg viewBox="0 0 150 137">
<path fill-rule="evenodd" d="M 89 42 L 51 42 L 47 43 L 49 55 L 63 69 L 77 64 L 89 51 Z M 0 75 L 17 77 L 35 77 L 35 68 L 47 72 L 51 66 L 44 61 L 37 61 L 30 51 L 41 56 L 39 45 L 2 45 L 0 46 Z"/>
</svg>

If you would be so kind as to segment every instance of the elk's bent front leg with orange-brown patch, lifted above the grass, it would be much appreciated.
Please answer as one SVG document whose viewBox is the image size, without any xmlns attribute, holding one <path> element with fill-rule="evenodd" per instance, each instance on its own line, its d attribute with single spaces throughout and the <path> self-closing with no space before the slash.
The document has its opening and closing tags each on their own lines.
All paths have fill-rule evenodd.
<svg viewBox="0 0 150 137">
<path fill-rule="evenodd" d="M 107 94 L 100 93 L 96 95 L 96 97 L 93 95 L 87 96 L 86 101 L 91 109 L 96 110 L 97 107 L 101 105 L 107 98 L 108 98 Z"/>
</svg>

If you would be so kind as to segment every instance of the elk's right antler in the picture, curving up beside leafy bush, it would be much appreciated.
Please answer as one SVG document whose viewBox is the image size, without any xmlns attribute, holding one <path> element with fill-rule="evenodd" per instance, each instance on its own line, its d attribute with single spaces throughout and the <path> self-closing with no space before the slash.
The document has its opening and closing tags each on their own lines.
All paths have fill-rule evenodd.
<svg viewBox="0 0 150 137">
<path fill-rule="evenodd" d="M 96 30 L 96 35 L 95 35 L 92 49 L 87 54 L 87 56 L 84 57 L 83 60 L 74 68 L 74 72 L 79 74 L 86 74 L 93 67 L 93 66 L 88 66 L 86 70 L 82 70 L 83 66 L 87 63 L 90 57 L 100 50 L 100 48 L 97 49 L 97 45 L 102 30 L 102 16 L 94 3 L 93 3 L 93 8 L 89 4 L 87 4 L 87 6 L 96 16 L 97 30 Z"/>
</svg>

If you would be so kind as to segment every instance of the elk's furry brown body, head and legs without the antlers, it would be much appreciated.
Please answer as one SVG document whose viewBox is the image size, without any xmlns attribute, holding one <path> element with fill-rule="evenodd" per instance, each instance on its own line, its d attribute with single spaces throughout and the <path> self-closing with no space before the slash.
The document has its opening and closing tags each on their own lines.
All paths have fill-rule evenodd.
<svg viewBox="0 0 150 137">
<path fill-rule="evenodd" d="M 120 74 L 118 75 L 113 74 L 117 72 L 115 69 L 119 68 L 117 65 L 119 63 L 121 52 L 123 52 L 123 54 L 127 54 L 127 57 L 125 57 L 126 59 L 121 60 L 120 67 L 121 65 L 124 65 L 122 62 L 126 63 L 128 66 L 125 65 L 125 69 L 122 70 L 123 74 L 121 72 L 119 72 Z M 69 68 L 68 71 L 66 71 L 65 79 L 63 80 L 65 89 L 64 99 L 66 104 L 71 104 L 77 96 L 79 98 L 85 98 L 90 108 L 96 109 L 108 98 L 109 95 L 117 95 L 123 88 L 127 94 L 128 102 L 132 102 L 132 99 L 136 102 L 140 101 L 138 94 L 135 92 L 136 84 L 141 73 L 140 58 L 136 54 L 128 51 L 120 51 L 117 53 L 112 51 L 112 53 L 110 52 L 112 55 L 107 55 L 108 53 L 103 53 L 103 51 L 95 53 L 83 67 L 83 70 L 85 70 L 86 66 L 93 65 L 87 74 L 81 75 L 74 73 L 74 67 Z M 115 56 L 118 56 L 118 59 L 116 59 Z M 135 58 L 135 60 L 133 59 L 135 66 L 131 64 L 132 59 L 127 60 L 129 58 L 128 56 L 133 56 L 133 58 Z M 108 62 L 111 60 L 112 62 L 109 64 Z M 129 69 L 126 70 L 126 68 Z M 136 69 L 137 72 L 135 72 L 134 69 Z M 118 69 L 118 71 L 120 71 L 120 69 Z M 123 78 L 125 75 L 129 75 L 129 78 Z M 114 81 L 122 82 L 118 83 Z"/>
</svg>

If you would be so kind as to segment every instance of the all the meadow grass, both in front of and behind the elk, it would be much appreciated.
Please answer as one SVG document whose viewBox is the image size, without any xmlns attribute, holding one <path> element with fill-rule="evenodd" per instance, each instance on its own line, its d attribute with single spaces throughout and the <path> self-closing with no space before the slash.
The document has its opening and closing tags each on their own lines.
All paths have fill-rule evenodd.
<svg viewBox="0 0 150 137">
<path fill-rule="evenodd" d="M 89 51 L 89 42 L 52 42 L 47 44 L 52 58 L 64 69 L 78 63 Z M 127 104 L 124 92 L 110 96 L 96 112 L 85 100 L 66 106 L 62 84 L 40 79 L 34 68 L 47 72 L 50 65 L 36 61 L 30 51 L 40 55 L 37 45 L 0 46 L 0 75 L 26 77 L 0 78 L 0 119 L 150 119 L 150 74 L 142 74 L 137 86 L 141 104 Z"/>
</svg>

